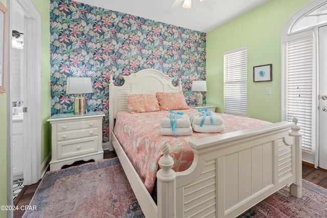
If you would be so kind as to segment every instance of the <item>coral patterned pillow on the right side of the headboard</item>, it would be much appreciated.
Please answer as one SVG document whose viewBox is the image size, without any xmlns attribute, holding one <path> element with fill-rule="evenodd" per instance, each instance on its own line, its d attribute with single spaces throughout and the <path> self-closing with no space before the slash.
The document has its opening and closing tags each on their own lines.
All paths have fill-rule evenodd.
<svg viewBox="0 0 327 218">
<path fill-rule="evenodd" d="M 155 93 L 159 102 L 160 110 L 182 110 L 189 109 L 184 94 L 180 92 L 157 92 Z"/>
</svg>

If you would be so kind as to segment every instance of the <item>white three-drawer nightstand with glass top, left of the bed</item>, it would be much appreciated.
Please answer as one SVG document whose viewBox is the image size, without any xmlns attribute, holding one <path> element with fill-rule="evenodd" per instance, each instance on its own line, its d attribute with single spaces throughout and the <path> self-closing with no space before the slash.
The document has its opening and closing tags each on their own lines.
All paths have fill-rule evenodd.
<svg viewBox="0 0 327 218">
<path fill-rule="evenodd" d="M 55 114 L 48 122 L 52 129 L 52 159 L 50 170 L 61 169 L 78 160 L 103 159 L 102 111 Z"/>
</svg>

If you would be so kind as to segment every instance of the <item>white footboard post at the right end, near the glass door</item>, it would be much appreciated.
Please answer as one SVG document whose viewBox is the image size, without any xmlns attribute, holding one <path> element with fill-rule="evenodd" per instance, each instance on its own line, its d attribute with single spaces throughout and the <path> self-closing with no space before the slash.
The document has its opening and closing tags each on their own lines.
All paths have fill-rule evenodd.
<svg viewBox="0 0 327 218">
<path fill-rule="evenodd" d="M 295 184 L 291 184 L 290 192 L 292 196 L 297 198 L 302 197 L 302 149 L 301 149 L 301 134 L 299 133 L 300 127 L 297 125 L 298 119 L 293 118 L 294 126 L 291 127 L 290 136 L 295 140 Z"/>
</svg>

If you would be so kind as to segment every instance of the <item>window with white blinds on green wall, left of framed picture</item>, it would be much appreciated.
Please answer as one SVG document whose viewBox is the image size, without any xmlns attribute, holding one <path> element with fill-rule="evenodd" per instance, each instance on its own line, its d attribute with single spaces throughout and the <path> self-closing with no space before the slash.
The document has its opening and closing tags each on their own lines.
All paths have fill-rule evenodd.
<svg viewBox="0 0 327 218">
<path fill-rule="evenodd" d="M 247 115 L 247 48 L 224 54 L 224 112 Z"/>
</svg>

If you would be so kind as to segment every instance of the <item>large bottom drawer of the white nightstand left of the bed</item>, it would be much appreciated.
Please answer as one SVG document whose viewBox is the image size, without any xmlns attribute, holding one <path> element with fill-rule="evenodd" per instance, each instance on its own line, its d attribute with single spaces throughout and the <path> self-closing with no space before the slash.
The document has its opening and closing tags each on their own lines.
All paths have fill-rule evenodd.
<svg viewBox="0 0 327 218">
<path fill-rule="evenodd" d="M 57 142 L 57 158 L 70 158 L 83 154 L 98 152 L 99 137 L 86 137 Z"/>
</svg>

